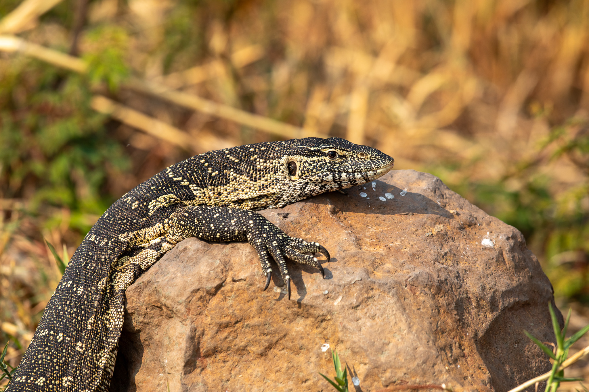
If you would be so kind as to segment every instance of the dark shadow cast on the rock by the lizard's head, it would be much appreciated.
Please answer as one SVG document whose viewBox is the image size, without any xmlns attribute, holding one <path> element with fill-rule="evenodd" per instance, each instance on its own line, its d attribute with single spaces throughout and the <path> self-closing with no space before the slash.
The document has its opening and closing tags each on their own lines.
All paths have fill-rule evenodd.
<svg viewBox="0 0 589 392">
<path fill-rule="evenodd" d="M 348 195 L 342 195 L 338 192 L 329 192 L 311 197 L 310 199 L 301 200 L 301 202 L 330 205 L 335 208 L 335 212 L 355 212 L 379 215 L 415 213 L 438 215 L 449 219 L 454 217 L 448 210 L 421 193 L 406 192 L 404 196 L 401 196 L 401 193 L 403 192 L 401 188 L 379 180 L 376 180 L 375 182 L 376 190 L 372 190 L 372 185 L 368 183 L 368 186 L 353 186 L 346 189 Z M 360 196 L 360 192 L 366 193 L 367 196 Z M 387 199 L 384 196 L 385 193 L 393 195 L 393 199 Z M 370 197 L 370 199 L 367 199 L 368 197 Z M 380 200 L 379 197 L 384 197 L 385 201 Z"/>
</svg>

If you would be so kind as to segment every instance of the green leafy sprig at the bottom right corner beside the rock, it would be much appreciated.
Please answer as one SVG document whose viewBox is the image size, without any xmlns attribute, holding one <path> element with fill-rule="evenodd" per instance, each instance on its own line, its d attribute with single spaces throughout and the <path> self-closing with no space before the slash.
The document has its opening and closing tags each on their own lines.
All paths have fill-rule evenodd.
<svg viewBox="0 0 589 392">
<path fill-rule="evenodd" d="M 568 311 L 567 321 L 564 323 L 564 328 L 562 331 L 560 330 L 560 325 L 558 324 L 558 320 L 556 318 L 556 314 L 552 309 L 552 305 L 548 304 L 548 310 L 550 310 L 550 317 L 552 319 L 552 328 L 554 328 L 554 335 L 556 336 L 556 347 L 555 350 L 551 350 L 545 346 L 540 340 L 536 339 L 532 336 L 528 331 L 524 331 L 527 337 L 529 337 L 535 344 L 544 351 L 554 363 L 552 364 L 552 370 L 550 372 L 550 376 L 548 376 L 548 381 L 546 384 L 545 392 L 556 392 L 560 383 L 564 381 L 583 381 L 583 378 L 570 378 L 564 377 L 564 368 L 561 369 L 562 363 L 567 360 L 568 357 L 568 350 L 573 346 L 575 341 L 581 339 L 581 337 L 589 331 L 589 325 L 585 326 L 583 329 L 579 330 L 573 336 L 568 339 L 564 339 L 565 334 L 567 333 L 568 329 L 568 321 L 571 318 L 571 311 Z"/>
</svg>

